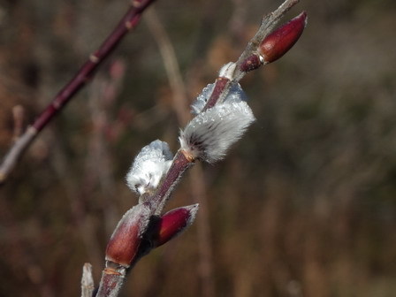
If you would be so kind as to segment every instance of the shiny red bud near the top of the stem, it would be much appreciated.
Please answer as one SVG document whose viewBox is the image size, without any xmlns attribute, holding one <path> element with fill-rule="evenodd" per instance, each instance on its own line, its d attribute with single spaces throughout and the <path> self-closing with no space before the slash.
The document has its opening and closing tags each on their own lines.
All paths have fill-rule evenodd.
<svg viewBox="0 0 396 297">
<path fill-rule="evenodd" d="M 278 29 L 265 37 L 259 46 L 259 52 L 264 59 L 264 63 L 274 62 L 285 55 L 293 47 L 294 43 L 299 40 L 306 25 L 307 13 L 303 11 L 297 17 L 278 27 Z"/>
</svg>

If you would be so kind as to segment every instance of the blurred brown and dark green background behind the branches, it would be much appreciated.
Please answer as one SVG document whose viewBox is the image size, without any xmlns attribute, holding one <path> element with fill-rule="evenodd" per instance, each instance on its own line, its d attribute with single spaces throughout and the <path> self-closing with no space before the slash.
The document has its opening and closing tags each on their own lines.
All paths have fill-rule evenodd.
<svg viewBox="0 0 396 297">
<path fill-rule="evenodd" d="M 0 188 L 2 296 L 78 296 L 85 262 L 99 281 L 137 202 L 133 157 L 156 139 L 176 151 L 188 105 L 279 4 L 156 1 Z M 0 0 L 1 156 L 128 5 Z M 167 209 L 201 202 L 194 225 L 122 296 L 394 296 L 396 4 L 302 0 L 285 21 L 302 10 L 300 41 L 241 81 L 255 124 L 173 195 Z"/>
</svg>

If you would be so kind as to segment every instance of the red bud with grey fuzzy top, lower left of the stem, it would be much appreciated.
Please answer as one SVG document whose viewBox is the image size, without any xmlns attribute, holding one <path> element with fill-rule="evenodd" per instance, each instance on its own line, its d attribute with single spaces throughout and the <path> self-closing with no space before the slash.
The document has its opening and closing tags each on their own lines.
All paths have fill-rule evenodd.
<svg viewBox="0 0 396 297">
<path fill-rule="evenodd" d="M 129 209 L 118 222 L 106 247 L 106 260 L 129 267 L 141 244 L 141 234 L 146 231 L 150 218 L 148 204 L 138 204 Z"/>
</svg>

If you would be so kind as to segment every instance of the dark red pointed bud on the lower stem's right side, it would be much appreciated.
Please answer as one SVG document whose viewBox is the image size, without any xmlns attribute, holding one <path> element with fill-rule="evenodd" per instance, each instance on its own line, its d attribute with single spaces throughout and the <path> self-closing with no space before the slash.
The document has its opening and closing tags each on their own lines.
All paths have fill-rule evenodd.
<svg viewBox="0 0 396 297">
<path fill-rule="evenodd" d="M 157 222 L 156 230 L 153 234 L 153 244 L 155 247 L 162 246 L 180 232 L 193 224 L 198 204 L 172 209 L 160 217 Z"/>
</svg>

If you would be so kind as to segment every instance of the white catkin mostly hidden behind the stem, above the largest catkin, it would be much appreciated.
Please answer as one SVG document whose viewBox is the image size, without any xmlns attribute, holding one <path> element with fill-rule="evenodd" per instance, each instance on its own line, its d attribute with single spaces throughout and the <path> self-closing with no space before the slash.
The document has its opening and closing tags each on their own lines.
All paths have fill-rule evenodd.
<svg viewBox="0 0 396 297">
<path fill-rule="evenodd" d="M 194 103 L 191 104 L 191 113 L 193 113 L 196 116 L 203 110 L 203 108 L 205 107 L 206 103 L 210 98 L 210 95 L 212 95 L 213 88 L 215 88 L 214 83 L 209 84 L 208 86 L 202 89 L 201 94 L 198 95 Z M 240 101 L 247 101 L 247 95 L 242 90 L 242 88 L 240 88 L 239 83 L 232 83 L 228 94 L 225 96 L 225 102 L 238 103 Z"/>
</svg>

